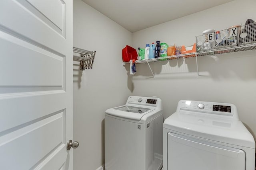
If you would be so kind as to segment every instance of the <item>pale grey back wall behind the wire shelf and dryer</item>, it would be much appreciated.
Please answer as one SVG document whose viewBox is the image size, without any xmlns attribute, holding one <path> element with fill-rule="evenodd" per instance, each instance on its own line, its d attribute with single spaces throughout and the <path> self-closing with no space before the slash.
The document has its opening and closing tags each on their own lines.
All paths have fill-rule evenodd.
<svg viewBox="0 0 256 170">
<path fill-rule="evenodd" d="M 243 25 L 248 18 L 256 21 L 255 6 L 255 0 L 235 0 L 137 31 L 132 35 L 132 46 L 145 47 L 146 43 L 157 40 L 169 45 L 193 45 L 195 36 L 202 35 L 205 29 Z M 241 121 L 256 139 L 256 51 L 218 55 L 218 59 L 200 57 L 198 62 L 199 77 L 195 58 L 150 63 L 155 78 L 150 78 L 147 64 L 137 64 L 132 94 L 161 98 L 165 118 L 174 113 L 182 99 L 233 103 Z"/>
</svg>

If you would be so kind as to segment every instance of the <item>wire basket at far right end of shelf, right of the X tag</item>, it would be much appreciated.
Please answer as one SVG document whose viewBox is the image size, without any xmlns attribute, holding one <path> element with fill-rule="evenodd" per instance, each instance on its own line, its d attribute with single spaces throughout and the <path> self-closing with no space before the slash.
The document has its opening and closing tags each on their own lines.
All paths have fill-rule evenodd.
<svg viewBox="0 0 256 170">
<path fill-rule="evenodd" d="M 246 45 L 256 43 L 256 23 L 250 23 L 243 25 L 238 33 L 238 45 Z M 255 49 L 255 47 L 249 47 L 248 50 Z M 236 49 L 240 51 L 241 49 Z"/>
</svg>

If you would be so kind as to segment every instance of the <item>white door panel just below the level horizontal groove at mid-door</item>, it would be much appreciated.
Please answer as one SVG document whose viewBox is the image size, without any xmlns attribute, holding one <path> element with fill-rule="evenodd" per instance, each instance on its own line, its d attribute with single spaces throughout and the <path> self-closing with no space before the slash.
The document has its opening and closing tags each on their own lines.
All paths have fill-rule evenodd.
<svg viewBox="0 0 256 170">
<path fill-rule="evenodd" d="M 0 135 L 63 111 L 65 103 L 56 101 L 62 100 L 66 95 L 63 90 L 59 91 L 1 95 L 0 110 L 4 119 L 0 119 Z"/>
</svg>

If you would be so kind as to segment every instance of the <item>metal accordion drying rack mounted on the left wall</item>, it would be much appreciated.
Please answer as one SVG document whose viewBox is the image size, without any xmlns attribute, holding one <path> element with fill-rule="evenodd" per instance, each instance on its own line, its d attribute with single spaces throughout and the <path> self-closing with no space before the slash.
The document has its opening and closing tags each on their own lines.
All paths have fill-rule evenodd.
<svg viewBox="0 0 256 170">
<path fill-rule="evenodd" d="M 80 61 L 80 70 L 92 68 L 96 51 L 88 51 L 73 47 L 73 60 Z"/>
</svg>

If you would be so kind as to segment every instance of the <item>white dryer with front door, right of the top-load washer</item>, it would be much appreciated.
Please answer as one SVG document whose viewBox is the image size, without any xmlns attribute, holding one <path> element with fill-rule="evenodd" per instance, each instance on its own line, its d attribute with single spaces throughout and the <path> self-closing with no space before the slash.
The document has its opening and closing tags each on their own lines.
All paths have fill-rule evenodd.
<svg viewBox="0 0 256 170">
<path fill-rule="evenodd" d="M 254 170 L 254 156 L 233 104 L 181 100 L 164 121 L 164 170 Z"/>
</svg>

